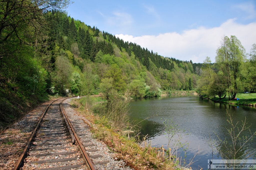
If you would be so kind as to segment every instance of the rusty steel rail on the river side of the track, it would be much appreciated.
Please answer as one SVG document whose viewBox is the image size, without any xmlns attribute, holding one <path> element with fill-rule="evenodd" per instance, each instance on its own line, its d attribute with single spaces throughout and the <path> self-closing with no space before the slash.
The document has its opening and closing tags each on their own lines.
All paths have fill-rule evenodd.
<svg viewBox="0 0 256 170">
<path fill-rule="evenodd" d="M 66 98 L 66 99 L 68 99 L 68 98 Z M 72 130 L 72 132 L 73 132 L 73 134 L 74 134 L 74 136 L 75 136 L 75 138 L 76 138 L 76 141 L 77 141 L 77 143 L 78 143 L 78 145 L 79 145 L 79 147 L 80 147 L 80 149 L 81 149 L 81 151 L 82 151 L 83 157 L 85 157 L 85 159 L 86 159 L 86 161 L 87 161 L 87 164 L 89 165 L 89 168 L 90 168 L 91 170 L 96 170 L 96 168 L 94 167 L 94 165 L 93 165 L 93 163 L 92 163 L 92 161 L 91 161 L 89 155 L 87 154 L 85 148 L 83 147 L 82 142 L 80 141 L 80 139 L 79 139 L 79 137 L 77 136 L 77 134 L 76 134 L 76 132 L 75 132 L 75 130 L 74 130 L 72 124 L 70 123 L 66 112 L 64 111 L 64 108 L 63 108 L 63 106 L 62 106 L 62 102 L 63 102 L 64 100 L 66 100 L 66 99 L 63 99 L 63 100 L 60 102 L 60 107 L 61 107 L 61 109 L 62 109 L 62 111 L 63 111 L 63 113 L 64 113 L 64 115 L 65 115 L 65 117 L 66 117 L 66 119 L 67 119 L 67 121 L 68 121 L 68 124 L 69 124 L 69 126 L 70 126 L 70 128 L 71 128 L 71 130 Z"/>
</svg>

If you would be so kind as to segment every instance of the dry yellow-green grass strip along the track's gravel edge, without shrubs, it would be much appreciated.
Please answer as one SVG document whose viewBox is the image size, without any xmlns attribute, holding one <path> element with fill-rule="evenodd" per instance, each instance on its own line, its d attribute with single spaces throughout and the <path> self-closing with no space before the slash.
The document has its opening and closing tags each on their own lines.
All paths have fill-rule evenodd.
<svg viewBox="0 0 256 170">
<path fill-rule="evenodd" d="M 85 108 L 87 103 L 88 108 Z M 120 159 L 126 160 L 127 164 L 134 169 L 177 169 L 180 167 L 176 155 L 169 156 L 163 148 L 154 148 L 144 141 L 138 141 L 139 136 L 134 135 L 132 123 L 127 123 L 125 128 L 113 126 L 108 116 L 97 110 L 107 102 L 101 97 L 73 99 L 71 104 L 86 120 L 91 127 L 93 136 L 107 144 Z M 85 121 L 86 123 L 86 121 Z M 133 135 L 131 135 L 133 134 Z M 138 134 L 138 133 L 137 133 Z"/>
</svg>

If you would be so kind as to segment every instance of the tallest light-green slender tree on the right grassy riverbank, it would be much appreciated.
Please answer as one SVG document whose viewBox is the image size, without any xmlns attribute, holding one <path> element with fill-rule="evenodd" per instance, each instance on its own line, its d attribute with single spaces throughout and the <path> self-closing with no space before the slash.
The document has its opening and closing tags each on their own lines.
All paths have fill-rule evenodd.
<svg viewBox="0 0 256 170">
<path fill-rule="evenodd" d="M 225 36 L 216 54 L 216 63 L 226 79 L 229 100 L 234 100 L 238 92 L 241 63 L 246 58 L 245 49 L 236 36 Z"/>
</svg>

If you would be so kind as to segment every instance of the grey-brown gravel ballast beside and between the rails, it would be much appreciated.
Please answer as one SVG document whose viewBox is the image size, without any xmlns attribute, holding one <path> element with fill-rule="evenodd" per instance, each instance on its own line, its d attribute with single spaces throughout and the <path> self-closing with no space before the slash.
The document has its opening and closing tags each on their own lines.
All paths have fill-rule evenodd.
<svg viewBox="0 0 256 170">
<path fill-rule="evenodd" d="M 84 123 L 85 118 L 79 115 L 69 104 L 71 99 L 67 99 L 63 102 L 63 107 L 65 109 L 66 114 L 69 117 L 73 128 L 77 132 L 80 137 L 81 142 L 83 143 L 85 149 L 89 156 L 91 156 L 91 160 L 95 165 L 96 169 L 132 169 L 130 168 L 125 161 L 117 158 L 117 155 L 110 151 L 108 146 L 101 141 L 98 141 L 92 137 L 92 133 L 90 132 L 90 128 L 88 124 Z M 51 103 L 51 101 L 42 103 L 33 111 L 27 113 L 24 118 L 20 121 L 14 123 L 9 129 L 3 131 L 0 135 L 0 169 L 12 169 L 15 166 L 16 161 L 18 160 L 20 154 L 22 153 L 27 140 L 29 139 L 31 133 L 33 132 L 38 120 L 40 119 L 42 113 L 45 111 L 46 107 Z M 43 127 L 42 127 L 43 128 Z M 44 133 L 51 131 L 51 133 L 63 133 L 63 140 L 60 142 L 65 143 L 68 142 L 65 131 L 59 131 L 58 129 L 51 130 L 42 130 L 43 136 Z M 56 136 L 60 137 L 62 134 L 56 134 Z M 51 142 L 47 142 L 47 139 L 42 137 L 40 139 L 45 141 L 48 144 Z M 34 143 L 37 144 L 36 142 Z M 35 164 L 31 164 L 30 166 L 24 166 L 22 169 L 38 169 L 38 168 L 54 168 L 55 166 L 67 166 L 74 164 L 74 168 L 72 169 L 87 169 L 85 165 L 80 167 L 75 167 L 78 164 L 81 165 L 81 159 L 79 159 L 79 154 L 77 153 L 77 147 L 72 144 L 59 144 L 57 146 L 52 146 L 53 148 L 59 148 L 58 150 L 46 150 L 44 151 L 44 147 L 50 147 L 51 145 L 44 146 L 41 144 L 39 149 L 31 150 L 30 155 L 26 158 L 27 161 L 34 161 Z M 65 149 L 62 149 L 63 146 L 68 146 Z M 41 155 L 42 157 L 38 158 L 39 154 L 51 154 L 58 152 L 58 155 Z M 52 159 L 69 159 L 66 156 L 66 152 L 69 152 L 72 157 L 77 157 L 77 160 L 70 160 L 69 162 L 58 162 L 58 163 L 46 163 L 41 164 L 40 166 L 36 163 L 36 161 L 43 160 L 52 160 Z M 72 163 L 73 162 L 73 163 Z M 75 163 L 77 162 L 77 163 Z"/>
</svg>

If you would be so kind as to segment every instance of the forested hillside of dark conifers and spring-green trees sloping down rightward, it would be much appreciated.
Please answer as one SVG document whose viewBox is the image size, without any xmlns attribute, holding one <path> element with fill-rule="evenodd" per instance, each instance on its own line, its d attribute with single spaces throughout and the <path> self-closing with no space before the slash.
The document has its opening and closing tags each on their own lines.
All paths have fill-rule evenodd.
<svg viewBox="0 0 256 170">
<path fill-rule="evenodd" d="M 68 1 L 1 1 L 0 119 L 48 94 L 153 97 L 195 88 L 201 64 L 164 58 L 67 16 Z"/>
</svg>

